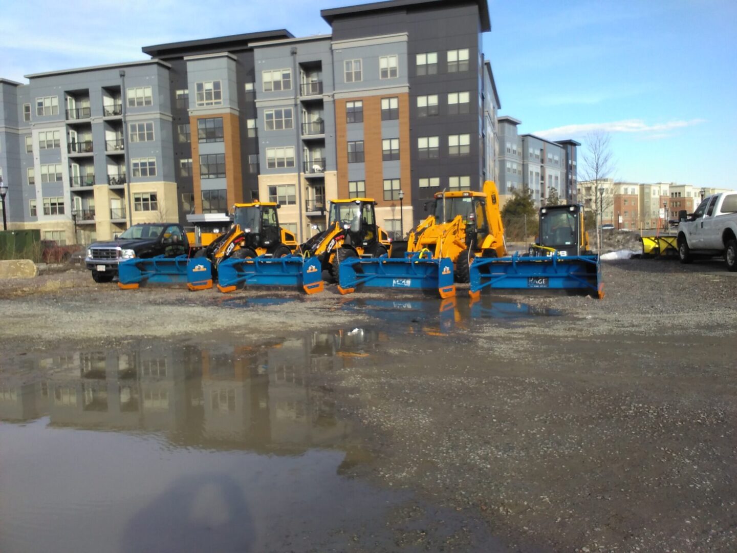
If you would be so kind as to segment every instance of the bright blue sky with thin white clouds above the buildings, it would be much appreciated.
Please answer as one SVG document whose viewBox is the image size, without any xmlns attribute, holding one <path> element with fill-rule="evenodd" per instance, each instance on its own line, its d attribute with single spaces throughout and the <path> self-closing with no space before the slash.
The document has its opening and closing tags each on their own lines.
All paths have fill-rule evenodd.
<svg viewBox="0 0 737 553">
<path fill-rule="evenodd" d="M 264 29 L 329 32 L 319 10 L 362 1 L 8 0 L 0 76 L 139 60 L 142 46 Z M 737 1 L 489 0 L 483 39 L 521 133 L 612 133 L 626 181 L 737 188 Z M 32 14 L 32 17 L 29 16 Z M 46 29 L 46 30 L 43 30 Z M 55 29 L 61 29 L 55 32 Z"/>
</svg>

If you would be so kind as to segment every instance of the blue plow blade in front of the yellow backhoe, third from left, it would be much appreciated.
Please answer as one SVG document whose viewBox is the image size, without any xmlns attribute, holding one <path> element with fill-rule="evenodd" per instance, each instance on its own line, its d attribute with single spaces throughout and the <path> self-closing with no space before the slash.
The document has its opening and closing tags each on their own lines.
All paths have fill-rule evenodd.
<svg viewBox="0 0 737 553">
<path fill-rule="evenodd" d="M 346 294 L 357 288 L 434 290 L 441 298 L 450 298 L 455 296 L 453 262 L 424 252 L 407 253 L 403 259 L 349 257 L 338 268 L 338 291 Z"/>
</svg>

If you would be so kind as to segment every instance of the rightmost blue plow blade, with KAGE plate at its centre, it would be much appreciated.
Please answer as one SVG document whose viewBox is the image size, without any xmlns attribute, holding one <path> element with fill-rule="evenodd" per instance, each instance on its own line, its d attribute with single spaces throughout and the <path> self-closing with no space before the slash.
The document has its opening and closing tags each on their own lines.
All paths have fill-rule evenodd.
<svg viewBox="0 0 737 553">
<path fill-rule="evenodd" d="M 578 291 L 604 298 L 598 255 L 475 257 L 469 273 L 473 299 L 484 288 Z"/>
</svg>

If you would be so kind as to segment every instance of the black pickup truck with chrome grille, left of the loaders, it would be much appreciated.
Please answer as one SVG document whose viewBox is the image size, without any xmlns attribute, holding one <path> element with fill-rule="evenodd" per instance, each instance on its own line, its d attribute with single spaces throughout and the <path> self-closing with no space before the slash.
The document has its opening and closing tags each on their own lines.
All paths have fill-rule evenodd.
<svg viewBox="0 0 737 553">
<path fill-rule="evenodd" d="M 87 249 L 85 265 L 94 282 L 111 282 L 118 263 L 134 257 L 176 257 L 189 252 L 184 227 L 179 223 L 139 223 L 115 240 L 95 242 Z"/>
</svg>

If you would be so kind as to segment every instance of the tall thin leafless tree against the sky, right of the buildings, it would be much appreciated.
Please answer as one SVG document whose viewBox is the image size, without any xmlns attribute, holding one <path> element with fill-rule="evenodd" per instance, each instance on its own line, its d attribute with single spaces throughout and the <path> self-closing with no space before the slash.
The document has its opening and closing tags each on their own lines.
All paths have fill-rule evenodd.
<svg viewBox="0 0 737 553">
<path fill-rule="evenodd" d="M 590 182 L 593 186 L 594 209 L 598 224 L 596 225 L 596 247 L 601 252 L 601 224 L 602 214 L 605 209 L 614 205 L 613 191 L 601 194 L 599 189 L 603 181 L 607 181 L 614 171 L 612 160 L 611 136 L 604 131 L 593 131 L 584 138 L 584 151 L 580 170 L 583 180 Z"/>
</svg>

